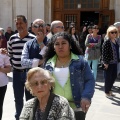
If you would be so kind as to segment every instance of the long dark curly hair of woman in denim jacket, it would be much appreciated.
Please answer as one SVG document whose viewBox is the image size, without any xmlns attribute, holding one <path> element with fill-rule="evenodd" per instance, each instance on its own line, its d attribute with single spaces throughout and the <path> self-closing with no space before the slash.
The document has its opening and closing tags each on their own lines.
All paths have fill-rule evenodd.
<svg viewBox="0 0 120 120">
<path fill-rule="evenodd" d="M 74 53 L 76 55 L 82 55 L 82 51 L 81 51 L 80 47 L 73 40 L 72 36 L 67 32 L 59 32 L 52 36 L 51 40 L 49 41 L 49 43 L 47 45 L 48 49 L 46 50 L 46 53 L 44 55 L 45 61 L 52 58 L 56 54 L 56 52 L 54 51 L 54 43 L 55 43 L 57 37 L 62 37 L 63 39 L 68 41 L 68 43 L 71 46 L 70 50 L 72 53 Z"/>
</svg>

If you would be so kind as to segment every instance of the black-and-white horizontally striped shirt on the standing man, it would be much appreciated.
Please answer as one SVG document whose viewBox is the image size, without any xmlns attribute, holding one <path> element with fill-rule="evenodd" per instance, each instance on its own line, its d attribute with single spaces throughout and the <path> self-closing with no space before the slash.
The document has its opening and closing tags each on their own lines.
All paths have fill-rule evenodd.
<svg viewBox="0 0 120 120">
<path fill-rule="evenodd" d="M 14 34 L 10 37 L 8 41 L 8 53 L 10 55 L 10 60 L 13 68 L 24 69 L 21 66 L 22 50 L 24 44 L 33 38 L 35 38 L 35 36 L 31 33 L 28 33 L 28 35 L 22 39 L 20 38 L 19 33 Z"/>
</svg>

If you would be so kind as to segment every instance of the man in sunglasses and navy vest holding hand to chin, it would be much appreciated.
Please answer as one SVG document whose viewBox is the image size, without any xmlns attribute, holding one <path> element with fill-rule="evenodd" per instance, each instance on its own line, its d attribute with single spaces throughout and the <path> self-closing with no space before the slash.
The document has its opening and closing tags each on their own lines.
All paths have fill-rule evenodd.
<svg viewBox="0 0 120 120">
<path fill-rule="evenodd" d="M 46 37 L 45 22 L 42 19 L 34 20 L 32 31 L 35 33 L 36 37 L 25 43 L 21 55 L 21 64 L 26 69 L 42 65 L 42 55 L 45 52 L 48 41 Z"/>
</svg>

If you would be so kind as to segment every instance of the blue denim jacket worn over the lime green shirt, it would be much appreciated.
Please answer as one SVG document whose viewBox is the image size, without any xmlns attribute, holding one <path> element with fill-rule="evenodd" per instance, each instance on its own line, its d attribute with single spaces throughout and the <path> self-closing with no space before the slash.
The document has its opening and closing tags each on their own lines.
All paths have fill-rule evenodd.
<svg viewBox="0 0 120 120">
<path fill-rule="evenodd" d="M 53 57 L 49 59 L 45 64 L 45 69 L 49 70 L 51 73 L 55 66 L 53 62 L 55 61 L 54 59 L 56 58 Z M 81 99 L 91 101 L 94 94 L 95 80 L 88 62 L 83 56 L 77 56 L 71 53 L 69 71 L 73 99 L 76 107 L 79 108 Z"/>
</svg>

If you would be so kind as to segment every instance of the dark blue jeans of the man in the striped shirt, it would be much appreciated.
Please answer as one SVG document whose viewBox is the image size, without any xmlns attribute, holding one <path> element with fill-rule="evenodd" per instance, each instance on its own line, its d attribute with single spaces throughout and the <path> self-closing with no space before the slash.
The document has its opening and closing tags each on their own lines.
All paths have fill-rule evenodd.
<svg viewBox="0 0 120 120">
<path fill-rule="evenodd" d="M 26 72 L 20 72 L 13 70 L 13 90 L 15 97 L 15 118 L 19 120 L 19 116 L 21 114 L 23 108 L 23 97 L 24 97 L 24 87 L 26 80 Z M 33 96 L 25 90 L 26 100 L 31 99 Z"/>
</svg>

